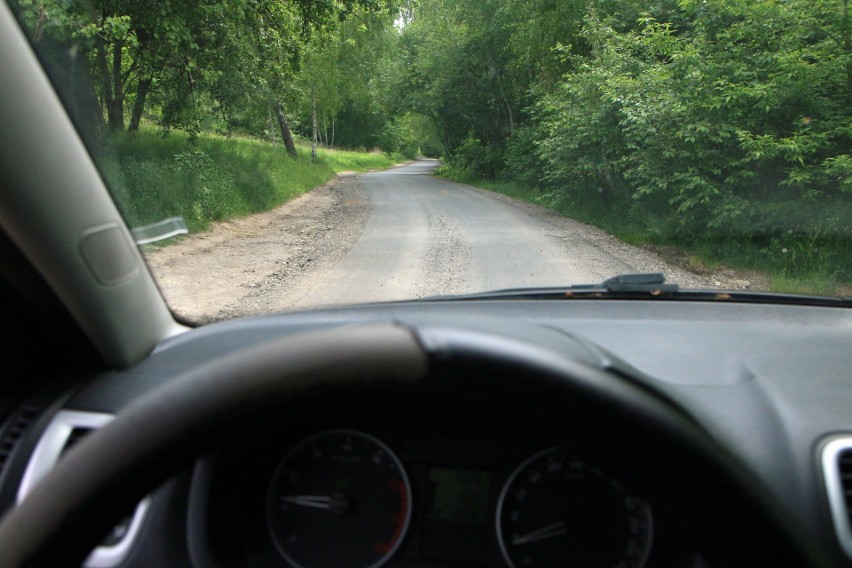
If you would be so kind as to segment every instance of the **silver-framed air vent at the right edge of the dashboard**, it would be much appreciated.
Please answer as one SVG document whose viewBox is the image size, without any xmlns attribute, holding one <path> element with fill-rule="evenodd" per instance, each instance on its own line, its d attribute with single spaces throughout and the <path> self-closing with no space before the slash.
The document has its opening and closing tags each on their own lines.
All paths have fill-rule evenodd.
<svg viewBox="0 0 852 568">
<path fill-rule="evenodd" d="M 852 437 L 834 438 L 823 447 L 822 470 L 837 540 L 852 558 Z"/>
</svg>

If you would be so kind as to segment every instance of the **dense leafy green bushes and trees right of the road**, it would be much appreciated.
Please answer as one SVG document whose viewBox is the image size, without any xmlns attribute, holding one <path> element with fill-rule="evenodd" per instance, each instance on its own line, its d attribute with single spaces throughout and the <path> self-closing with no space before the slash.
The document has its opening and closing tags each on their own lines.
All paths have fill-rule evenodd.
<svg viewBox="0 0 852 568">
<path fill-rule="evenodd" d="M 513 180 L 623 238 L 787 282 L 852 279 L 846 0 L 518 0 L 487 17 L 464 0 L 427 5 L 445 9 L 409 34 L 428 65 L 407 97 L 455 125 L 444 175 Z M 457 76 L 448 53 L 474 45 L 526 76 L 496 139 L 474 118 L 505 123 L 497 89 Z"/>
</svg>

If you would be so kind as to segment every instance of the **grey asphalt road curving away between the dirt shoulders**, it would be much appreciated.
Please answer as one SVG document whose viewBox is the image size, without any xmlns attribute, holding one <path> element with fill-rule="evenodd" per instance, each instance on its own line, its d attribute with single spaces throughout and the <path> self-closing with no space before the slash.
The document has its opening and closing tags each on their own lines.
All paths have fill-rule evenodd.
<svg viewBox="0 0 852 568">
<path fill-rule="evenodd" d="M 347 304 L 558 286 L 633 270 L 540 214 L 432 177 L 436 166 L 435 160 L 419 160 L 358 176 L 368 201 L 360 238 L 292 290 L 297 297 L 290 302 Z"/>
</svg>

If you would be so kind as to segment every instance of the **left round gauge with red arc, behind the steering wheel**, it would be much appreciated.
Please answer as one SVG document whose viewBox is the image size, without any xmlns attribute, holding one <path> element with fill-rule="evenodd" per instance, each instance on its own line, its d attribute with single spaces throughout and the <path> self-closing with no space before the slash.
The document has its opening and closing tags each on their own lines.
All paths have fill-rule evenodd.
<svg viewBox="0 0 852 568">
<path fill-rule="evenodd" d="M 293 566 L 373 568 L 402 542 L 411 488 L 382 442 L 332 430 L 284 457 L 270 485 L 267 518 L 276 547 Z"/>
</svg>

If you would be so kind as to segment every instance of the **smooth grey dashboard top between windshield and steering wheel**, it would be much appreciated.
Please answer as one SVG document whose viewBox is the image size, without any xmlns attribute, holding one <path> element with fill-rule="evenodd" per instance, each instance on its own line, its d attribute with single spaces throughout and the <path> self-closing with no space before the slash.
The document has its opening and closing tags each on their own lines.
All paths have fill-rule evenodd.
<svg viewBox="0 0 852 568">
<path fill-rule="evenodd" d="M 200 328 L 68 406 L 112 412 L 160 381 L 232 349 L 316 326 L 383 319 L 522 338 L 579 357 L 616 357 L 672 397 L 813 518 L 819 439 L 852 431 L 852 314 L 801 306 L 660 302 L 386 304 L 268 316 Z M 577 343 L 574 339 L 580 341 Z M 585 351 L 591 346 L 592 353 Z M 594 353 L 596 348 L 606 353 Z M 778 472 L 778 457 L 789 470 Z"/>
</svg>

